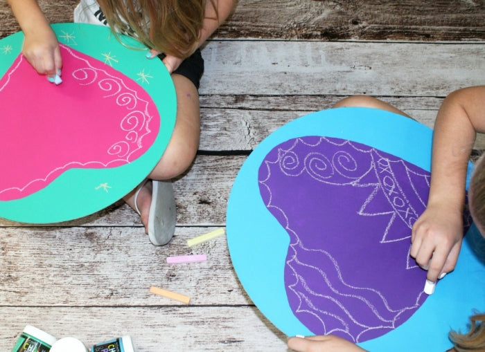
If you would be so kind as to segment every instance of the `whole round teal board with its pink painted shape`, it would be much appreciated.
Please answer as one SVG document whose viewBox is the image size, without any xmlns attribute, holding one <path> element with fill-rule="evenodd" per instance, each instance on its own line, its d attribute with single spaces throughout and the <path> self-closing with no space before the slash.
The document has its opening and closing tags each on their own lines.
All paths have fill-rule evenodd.
<svg viewBox="0 0 485 352">
<path fill-rule="evenodd" d="M 23 33 L 0 40 L 0 142 L 11 151 L 0 159 L 0 216 L 12 221 L 69 221 L 118 201 L 155 167 L 175 126 L 173 81 L 147 48 L 105 26 L 52 28 L 58 86 L 21 55 Z"/>
</svg>

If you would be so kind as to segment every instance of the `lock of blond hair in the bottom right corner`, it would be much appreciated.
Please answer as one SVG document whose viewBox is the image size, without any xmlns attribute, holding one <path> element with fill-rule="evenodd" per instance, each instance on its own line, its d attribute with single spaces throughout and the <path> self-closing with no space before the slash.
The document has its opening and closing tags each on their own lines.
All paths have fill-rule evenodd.
<svg viewBox="0 0 485 352">
<path fill-rule="evenodd" d="M 458 352 L 485 351 L 485 314 L 470 317 L 470 331 L 457 333 L 450 331 L 450 340 L 455 344 Z"/>
</svg>

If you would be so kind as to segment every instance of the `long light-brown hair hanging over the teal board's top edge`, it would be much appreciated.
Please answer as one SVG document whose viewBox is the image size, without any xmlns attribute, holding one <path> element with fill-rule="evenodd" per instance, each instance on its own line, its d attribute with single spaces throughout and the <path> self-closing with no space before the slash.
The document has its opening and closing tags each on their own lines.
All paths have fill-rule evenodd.
<svg viewBox="0 0 485 352">
<path fill-rule="evenodd" d="M 211 4 L 217 14 L 214 0 Z M 149 48 L 186 58 L 197 48 L 206 0 L 98 0 L 114 33 L 134 35 Z"/>
</svg>

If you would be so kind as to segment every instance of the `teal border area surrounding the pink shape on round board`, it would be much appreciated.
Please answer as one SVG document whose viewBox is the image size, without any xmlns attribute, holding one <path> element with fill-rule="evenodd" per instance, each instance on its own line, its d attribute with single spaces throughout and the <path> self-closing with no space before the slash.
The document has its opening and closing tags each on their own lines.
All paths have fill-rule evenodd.
<svg viewBox="0 0 485 352">
<path fill-rule="evenodd" d="M 105 26 L 91 24 L 53 24 L 62 44 L 110 64 L 137 82 L 155 102 L 160 130 L 152 146 L 139 158 L 120 167 L 69 169 L 52 183 L 24 198 L 0 201 L 0 216 L 25 223 L 55 223 L 87 216 L 118 201 L 152 171 L 172 136 L 177 100 L 172 78 L 159 59 L 146 59 L 148 50 L 123 35 L 121 42 Z M 0 76 L 21 53 L 23 33 L 0 40 Z M 149 73 L 150 82 L 140 73 Z M 5 165 L 2 165 L 5 167 Z M 99 187 L 100 185 L 109 187 Z"/>
</svg>

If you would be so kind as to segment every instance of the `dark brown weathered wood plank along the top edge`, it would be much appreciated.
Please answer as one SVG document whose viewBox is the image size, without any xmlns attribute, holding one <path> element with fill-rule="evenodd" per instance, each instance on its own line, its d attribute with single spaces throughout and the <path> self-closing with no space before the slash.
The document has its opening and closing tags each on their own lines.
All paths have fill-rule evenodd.
<svg viewBox="0 0 485 352">
<path fill-rule="evenodd" d="M 51 22 L 72 21 L 78 0 L 39 1 Z M 485 39 L 484 1 L 240 0 L 217 37 L 462 41 Z M 19 30 L 0 2 L 0 37 Z"/>
</svg>

